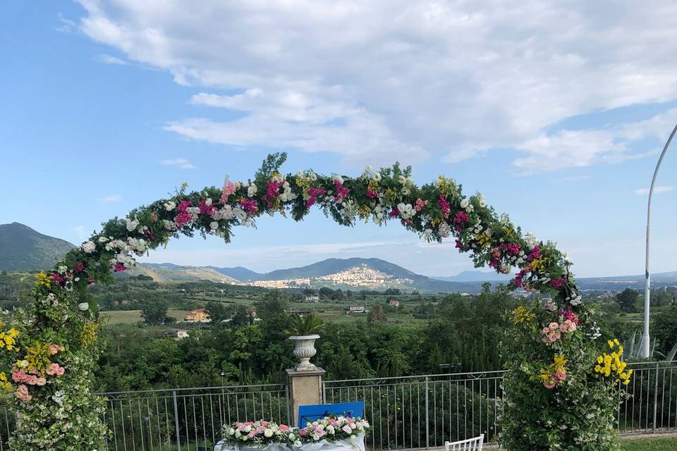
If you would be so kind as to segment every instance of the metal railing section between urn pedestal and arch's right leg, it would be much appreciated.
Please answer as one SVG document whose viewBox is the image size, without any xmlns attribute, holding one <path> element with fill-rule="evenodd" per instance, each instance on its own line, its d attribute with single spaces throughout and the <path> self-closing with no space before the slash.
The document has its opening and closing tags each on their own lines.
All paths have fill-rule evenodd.
<svg viewBox="0 0 677 451">
<path fill-rule="evenodd" d="M 324 402 L 364 401 L 372 449 L 442 447 L 496 435 L 505 371 L 324 382 Z"/>
</svg>

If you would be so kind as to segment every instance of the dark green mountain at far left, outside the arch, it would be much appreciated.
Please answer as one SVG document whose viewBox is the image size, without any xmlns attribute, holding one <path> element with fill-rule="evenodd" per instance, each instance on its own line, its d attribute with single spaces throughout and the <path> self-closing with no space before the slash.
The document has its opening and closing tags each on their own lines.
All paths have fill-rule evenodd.
<svg viewBox="0 0 677 451">
<path fill-rule="evenodd" d="M 20 223 L 0 224 L 0 270 L 51 269 L 73 247 Z"/>
</svg>

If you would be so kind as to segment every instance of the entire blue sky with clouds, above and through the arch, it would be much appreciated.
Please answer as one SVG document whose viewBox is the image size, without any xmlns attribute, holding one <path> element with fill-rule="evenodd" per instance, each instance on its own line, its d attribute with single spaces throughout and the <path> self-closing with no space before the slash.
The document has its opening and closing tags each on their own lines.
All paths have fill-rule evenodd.
<svg viewBox="0 0 677 451">
<path fill-rule="evenodd" d="M 0 223 L 80 242 L 182 182 L 411 163 L 559 242 L 580 276 L 642 273 L 646 189 L 677 121 L 677 18 L 581 2 L 9 1 L 0 27 Z M 613 12 L 611 12 L 613 11 Z M 652 32 L 647 32 L 647 30 Z M 654 197 L 654 271 L 677 270 L 677 153 Z M 231 245 L 178 240 L 148 261 L 256 271 L 380 257 L 472 268 L 392 223 L 262 218 Z"/>
</svg>

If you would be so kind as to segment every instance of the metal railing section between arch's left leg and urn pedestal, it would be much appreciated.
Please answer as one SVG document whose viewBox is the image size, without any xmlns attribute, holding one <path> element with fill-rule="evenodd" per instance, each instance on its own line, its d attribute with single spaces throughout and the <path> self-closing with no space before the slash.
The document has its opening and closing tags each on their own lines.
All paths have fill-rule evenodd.
<svg viewBox="0 0 677 451">
<path fill-rule="evenodd" d="M 221 427 L 236 421 L 287 423 L 287 385 L 238 385 L 101 393 L 111 451 L 211 451 Z"/>
</svg>

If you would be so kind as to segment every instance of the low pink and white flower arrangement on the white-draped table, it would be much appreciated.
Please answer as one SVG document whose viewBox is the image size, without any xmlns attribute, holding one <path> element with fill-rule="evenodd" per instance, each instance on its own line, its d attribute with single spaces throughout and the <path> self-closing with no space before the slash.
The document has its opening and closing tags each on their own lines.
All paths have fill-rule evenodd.
<svg viewBox="0 0 677 451">
<path fill-rule="evenodd" d="M 272 444 L 300 448 L 307 443 L 347 442 L 356 447 L 360 438 L 370 432 L 370 424 L 362 418 L 326 416 L 308 422 L 305 428 L 292 428 L 274 421 L 248 421 L 224 426 L 224 443 L 235 447 L 267 448 Z"/>
</svg>

